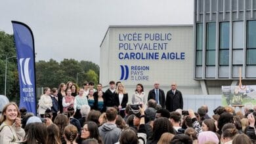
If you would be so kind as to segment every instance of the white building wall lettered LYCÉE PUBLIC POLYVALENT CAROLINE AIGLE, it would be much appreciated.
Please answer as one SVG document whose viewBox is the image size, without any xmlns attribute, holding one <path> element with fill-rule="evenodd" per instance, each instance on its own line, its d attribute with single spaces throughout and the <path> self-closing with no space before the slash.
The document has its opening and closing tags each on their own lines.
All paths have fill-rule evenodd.
<svg viewBox="0 0 256 144">
<path fill-rule="evenodd" d="M 194 80 L 192 26 L 110 26 L 100 45 L 100 83 L 121 81 L 129 94 L 138 83 L 144 92 L 160 82 L 176 82 L 183 94 L 203 94 Z"/>
</svg>

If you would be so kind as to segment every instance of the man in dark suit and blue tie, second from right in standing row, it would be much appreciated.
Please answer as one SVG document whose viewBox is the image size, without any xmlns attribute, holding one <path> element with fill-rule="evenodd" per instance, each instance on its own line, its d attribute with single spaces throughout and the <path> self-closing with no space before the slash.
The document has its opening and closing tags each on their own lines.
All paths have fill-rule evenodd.
<svg viewBox="0 0 256 144">
<path fill-rule="evenodd" d="M 159 82 L 154 82 L 154 89 L 148 92 L 149 99 L 154 99 L 162 108 L 165 107 L 165 93 L 159 88 Z"/>
</svg>

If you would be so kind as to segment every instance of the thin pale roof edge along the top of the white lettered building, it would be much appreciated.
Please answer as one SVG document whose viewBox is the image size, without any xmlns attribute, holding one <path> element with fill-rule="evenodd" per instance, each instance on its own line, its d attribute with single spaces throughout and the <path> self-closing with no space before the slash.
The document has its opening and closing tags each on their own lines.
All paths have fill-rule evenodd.
<svg viewBox="0 0 256 144">
<path fill-rule="evenodd" d="M 106 38 L 106 35 L 108 33 L 108 30 L 110 28 L 114 28 L 114 27 L 187 27 L 187 26 L 193 26 L 193 24 L 174 24 L 174 25 L 110 25 L 108 26 L 108 29 L 106 30 L 106 33 L 100 43 L 100 47 L 102 46 L 102 43 L 104 41 L 104 39 Z"/>
</svg>

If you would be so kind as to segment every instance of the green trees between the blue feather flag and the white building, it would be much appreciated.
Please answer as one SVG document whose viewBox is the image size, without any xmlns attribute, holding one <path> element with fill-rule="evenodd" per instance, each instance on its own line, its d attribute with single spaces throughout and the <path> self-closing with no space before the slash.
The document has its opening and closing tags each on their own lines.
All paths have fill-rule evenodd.
<svg viewBox="0 0 256 144">
<path fill-rule="evenodd" d="M 96 77 L 91 75 L 92 72 L 89 72 L 90 69 L 88 67 L 92 68 L 91 71 L 93 71 Z M 84 71 L 84 73 L 80 73 L 81 71 Z M 76 82 L 76 77 L 79 86 L 82 86 L 84 81 L 97 83 L 98 73 L 95 71 L 99 71 L 99 67 L 93 62 L 78 62 L 74 59 L 64 59 L 58 63 L 55 60 L 49 60 L 49 62 L 41 60 L 36 63 L 37 87 L 49 86 L 50 88 L 58 88 L 58 85 L 62 82 Z M 88 72 L 90 75 L 87 75 Z"/>
</svg>

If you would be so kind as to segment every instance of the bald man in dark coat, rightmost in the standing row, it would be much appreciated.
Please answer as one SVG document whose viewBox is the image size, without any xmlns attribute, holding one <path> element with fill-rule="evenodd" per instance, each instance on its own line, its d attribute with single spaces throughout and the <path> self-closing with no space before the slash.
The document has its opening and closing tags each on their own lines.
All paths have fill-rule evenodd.
<svg viewBox="0 0 256 144">
<path fill-rule="evenodd" d="M 183 98 L 179 90 L 176 89 L 177 84 L 173 82 L 171 84 L 171 90 L 166 94 L 166 109 L 169 112 L 175 111 L 176 109 L 183 109 Z"/>
</svg>

